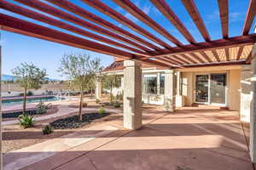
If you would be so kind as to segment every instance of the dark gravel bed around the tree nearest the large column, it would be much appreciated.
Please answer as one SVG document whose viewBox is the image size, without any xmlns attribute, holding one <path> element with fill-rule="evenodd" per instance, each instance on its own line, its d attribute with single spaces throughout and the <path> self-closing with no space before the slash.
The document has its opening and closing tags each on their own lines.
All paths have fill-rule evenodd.
<svg viewBox="0 0 256 170">
<path fill-rule="evenodd" d="M 79 121 L 79 116 L 69 116 L 62 119 L 58 119 L 55 122 L 50 122 L 49 124 L 55 129 L 67 129 L 67 128 L 79 128 L 86 124 L 89 124 L 95 119 L 100 119 L 104 116 L 110 115 L 109 113 L 85 113 L 83 114 L 82 121 Z"/>
</svg>

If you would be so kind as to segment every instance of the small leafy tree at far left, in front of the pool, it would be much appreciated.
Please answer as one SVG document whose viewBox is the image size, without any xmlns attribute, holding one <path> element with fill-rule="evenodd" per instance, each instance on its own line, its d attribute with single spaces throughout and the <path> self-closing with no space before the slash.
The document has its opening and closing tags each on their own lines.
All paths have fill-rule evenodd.
<svg viewBox="0 0 256 170">
<path fill-rule="evenodd" d="M 20 77 L 17 82 L 24 88 L 23 113 L 26 113 L 26 91 L 27 89 L 41 88 L 46 77 L 46 70 L 41 70 L 33 64 L 21 63 L 12 72 L 15 76 Z"/>
</svg>

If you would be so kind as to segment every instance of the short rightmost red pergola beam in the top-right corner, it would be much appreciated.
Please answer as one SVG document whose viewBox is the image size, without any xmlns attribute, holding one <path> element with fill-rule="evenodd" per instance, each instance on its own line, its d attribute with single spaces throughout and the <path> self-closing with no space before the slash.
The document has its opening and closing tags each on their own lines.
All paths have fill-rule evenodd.
<svg viewBox="0 0 256 170">
<path fill-rule="evenodd" d="M 242 35 L 247 35 L 249 33 L 251 26 L 253 24 L 255 15 L 256 15 L 256 0 L 250 0 L 249 6 L 247 9 L 247 16 L 242 28 Z"/>
</svg>

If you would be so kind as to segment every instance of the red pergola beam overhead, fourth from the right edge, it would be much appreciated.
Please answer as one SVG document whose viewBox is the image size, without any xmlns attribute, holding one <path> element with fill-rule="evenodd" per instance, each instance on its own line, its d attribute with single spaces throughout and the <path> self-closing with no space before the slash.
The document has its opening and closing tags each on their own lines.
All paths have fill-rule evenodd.
<svg viewBox="0 0 256 170">
<path fill-rule="evenodd" d="M 166 0 L 150 0 L 151 3 L 154 3 L 154 6 L 159 9 L 161 14 L 166 16 L 166 19 L 170 20 L 173 26 L 177 28 L 183 34 L 190 43 L 195 43 L 194 37 L 189 33 L 187 28 L 183 26 L 181 20 L 178 19 L 177 15 L 172 11 L 172 8 L 166 3 Z"/>
</svg>

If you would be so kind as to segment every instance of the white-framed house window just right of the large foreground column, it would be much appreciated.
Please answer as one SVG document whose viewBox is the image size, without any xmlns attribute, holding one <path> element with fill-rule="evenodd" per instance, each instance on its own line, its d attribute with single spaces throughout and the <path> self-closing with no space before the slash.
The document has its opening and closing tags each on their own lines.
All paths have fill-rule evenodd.
<svg viewBox="0 0 256 170">
<path fill-rule="evenodd" d="M 143 76 L 143 93 L 157 94 L 157 76 L 155 74 Z"/>
</svg>

